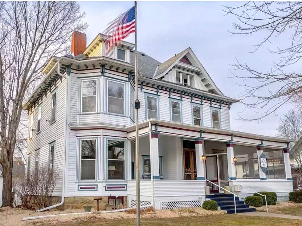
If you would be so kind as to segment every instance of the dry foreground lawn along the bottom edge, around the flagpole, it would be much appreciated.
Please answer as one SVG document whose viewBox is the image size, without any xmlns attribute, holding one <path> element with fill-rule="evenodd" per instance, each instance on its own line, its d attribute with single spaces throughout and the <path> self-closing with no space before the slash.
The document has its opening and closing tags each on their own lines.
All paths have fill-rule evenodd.
<svg viewBox="0 0 302 226">
<path fill-rule="evenodd" d="M 60 226 L 116 226 L 116 225 L 135 225 L 135 219 L 99 219 L 89 217 L 87 221 L 76 221 L 60 224 Z M 251 217 L 235 214 L 208 215 L 208 216 L 182 216 L 173 218 L 142 218 L 142 226 L 301 226 L 301 220 L 291 220 L 271 217 Z M 40 225 L 40 224 L 36 224 Z M 52 226 L 53 224 L 43 224 Z"/>
</svg>

